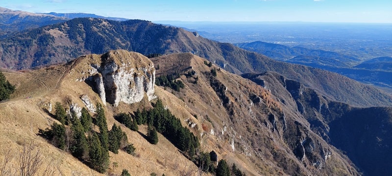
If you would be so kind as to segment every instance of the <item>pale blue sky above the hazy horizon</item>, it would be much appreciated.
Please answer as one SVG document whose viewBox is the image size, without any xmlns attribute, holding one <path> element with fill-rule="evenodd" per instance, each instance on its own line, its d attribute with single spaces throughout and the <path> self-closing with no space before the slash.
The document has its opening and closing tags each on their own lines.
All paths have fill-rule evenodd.
<svg viewBox="0 0 392 176">
<path fill-rule="evenodd" d="M 0 7 L 152 22 L 392 23 L 392 0 L 0 0 Z"/>
</svg>

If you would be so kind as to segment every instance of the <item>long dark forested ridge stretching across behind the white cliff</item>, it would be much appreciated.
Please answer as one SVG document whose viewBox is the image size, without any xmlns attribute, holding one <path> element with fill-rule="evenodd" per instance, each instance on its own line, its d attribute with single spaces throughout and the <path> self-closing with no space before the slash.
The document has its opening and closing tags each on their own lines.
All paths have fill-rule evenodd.
<svg viewBox="0 0 392 176">
<path fill-rule="evenodd" d="M 274 61 L 233 44 L 214 42 L 197 33 L 142 20 L 77 18 L 12 35 L 0 44 L 0 65 L 13 69 L 63 63 L 109 49 L 126 49 L 145 55 L 191 52 L 237 74 L 275 71 L 354 106 L 392 105 L 391 95 L 339 74 Z"/>
</svg>

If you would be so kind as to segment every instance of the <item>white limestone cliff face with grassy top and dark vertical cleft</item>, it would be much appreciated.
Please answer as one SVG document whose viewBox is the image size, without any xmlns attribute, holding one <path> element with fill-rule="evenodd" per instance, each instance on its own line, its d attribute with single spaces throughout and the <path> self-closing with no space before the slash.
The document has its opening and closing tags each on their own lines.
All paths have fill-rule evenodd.
<svg viewBox="0 0 392 176">
<path fill-rule="evenodd" d="M 88 70 L 88 76 L 79 78 L 79 81 L 89 82 L 104 104 L 132 104 L 140 102 L 145 94 L 148 101 L 155 98 L 155 68 L 142 54 L 112 50 L 102 55 L 83 56 L 78 60 L 76 62 L 85 62 L 81 74 L 86 73 L 86 68 Z"/>
</svg>

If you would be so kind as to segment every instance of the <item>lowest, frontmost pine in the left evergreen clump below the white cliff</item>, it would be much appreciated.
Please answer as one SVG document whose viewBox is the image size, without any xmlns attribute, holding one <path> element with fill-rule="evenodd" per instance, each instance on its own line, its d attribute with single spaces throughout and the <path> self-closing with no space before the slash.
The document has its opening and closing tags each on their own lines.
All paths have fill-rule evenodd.
<svg viewBox="0 0 392 176">
<path fill-rule="evenodd" d="M 109 155 L 105 154 L 105 149 L 101 147 L 98 134 L 93 133 L 89 139 L 89 165 L 99 173 L 105 173 L 109 165 Z"/>
</svg>

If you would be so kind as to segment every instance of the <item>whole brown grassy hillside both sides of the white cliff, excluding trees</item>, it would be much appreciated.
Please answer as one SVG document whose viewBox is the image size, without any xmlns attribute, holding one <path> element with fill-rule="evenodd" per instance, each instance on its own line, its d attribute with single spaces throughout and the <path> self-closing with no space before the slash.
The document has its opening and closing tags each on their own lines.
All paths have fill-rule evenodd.
<svg viewBox="0 0 392 176">
<path fill-rule="evenodd" d="M 147 59 L 137 53 L 117 57 L 125 62 Z M 99 175 L 71 154 L 60 151 L 36 135 L 38 129 L 45 129 L 55 121 L 50 115 L 53 111 L 46 111 L 49 104 L 61 102 L 68 108 L 71 104 L 84 107 L 81 95 L 88 96 L 93 104 L 102 103 L 94 88 L 78 81 L 86 77 L 83 73 L 88 72 L 88 64 L 99 62 L 98 58 L 99 55 L 91 55 L 66 65 L 4 73 L 11 84 L 17 85 L 17 91 L 11 100 L 0 104 L 0 137 L 5 141 L 0 145 L 1 158 L 8 149 L 15 154 L 19 152 L 23 145 L 21 141 L 32 141 L 39 146 L 45 158 L 44 165 L 52 158 L 59 163 L 56 172 Z M 230 166 L 235 163 L 246 175 L 358 175 L 346 156 L 309 128 L 309 122 L 293 108 L 295 102 L 291 102 L 294 100 L 287 91 L 286 102 L 283 102 L 271 90 L 215 65 L 209 67 L 204 63 L 206 60 L 190 53 L 151 60 L 155 67 L 159 65 L 157 77 L 174 73 L 179 75 L 177 80 L 184 83 L 184 88 L 179 91 L 156 86 L 155 95 L 183 126 L 198 137 L 201 151 L 214 150 L 219 159 L 226 159 Z M 131 105 L 120 103 L 116 107 L 107 104 L 104 110 L 109 129 L 114 123 L 120 125 L 113 115 L 132 113 L 143 107 L 151 108 L 147 98 Z M 121 127 L 128 141 L 136 147 L 136 154 L 110 153 L 109 172 L 120 174 L 122 169 L 127 169 L 131 175 L 142 176 L 150 173 L 197 174 L 196 165 L 162 135 L 159 134 L 157 145 L 151 145 L 139 133 L 146 134 L 146 126 L 140 126 L 139 132 Z M 17 160 L 11 164 L 15 168 Z"/>
</svg>

